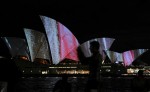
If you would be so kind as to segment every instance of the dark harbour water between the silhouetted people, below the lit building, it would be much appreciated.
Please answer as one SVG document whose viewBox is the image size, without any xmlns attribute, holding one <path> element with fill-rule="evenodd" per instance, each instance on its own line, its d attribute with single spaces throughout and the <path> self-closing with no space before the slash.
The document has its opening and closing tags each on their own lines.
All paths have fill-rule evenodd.
<svg viewBox="0 0 150 92">
<path fill-rule="evenodd" d="M 16 92 L 52 92 L 55 83 L 61 77 L 28 77 L 16 85 Z M 104 77 L 101 80 L 101 92 L 132 92 L 131 77 Z M 68 82 L 72 85 L 72 92 L 83 92 L 86 77 L 69 77 Z"/>
</svg>

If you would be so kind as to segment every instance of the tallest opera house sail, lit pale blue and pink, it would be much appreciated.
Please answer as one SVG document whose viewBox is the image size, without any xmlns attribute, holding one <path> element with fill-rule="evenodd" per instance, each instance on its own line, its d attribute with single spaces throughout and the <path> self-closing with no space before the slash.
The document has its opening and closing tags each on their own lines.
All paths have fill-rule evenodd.
<svg viewBox="0 0 150 92">
<path fill-rule="evenodd" d="M 40 17 L 50 45 L 53 64 L 58 64 L 65 58 L 78 61 L 76 48 L 79 43 L 75 36 L 54 19 L 45 16 Z"/>
</svg>

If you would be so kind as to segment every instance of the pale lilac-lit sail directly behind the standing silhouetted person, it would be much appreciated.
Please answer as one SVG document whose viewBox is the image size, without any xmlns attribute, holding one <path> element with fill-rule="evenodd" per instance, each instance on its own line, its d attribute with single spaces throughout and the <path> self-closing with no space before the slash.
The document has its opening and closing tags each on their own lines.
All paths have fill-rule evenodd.
<svg viewBox="0 0 150 92">
<path fill-rule="evenodd" d="M 81 44 L 81 50 L 83 52 L 83 54 L 85 55 L 85 57 L 89 57 L 91 56 L 91 52 L 90 52 L 90 42 L 91 41 L 98 41 L 100 43 L 100 53 L 103 56 L 103 59 L 105 59 L 105 54 L 104 54 L 104 50 L 108 50 L 112 43 L 114 42 L 115 39 L 113 38 L 95 38 L 92 40 L 89 40 L 87 42 L 84 42 L 83 44 Z"/>
</svg>

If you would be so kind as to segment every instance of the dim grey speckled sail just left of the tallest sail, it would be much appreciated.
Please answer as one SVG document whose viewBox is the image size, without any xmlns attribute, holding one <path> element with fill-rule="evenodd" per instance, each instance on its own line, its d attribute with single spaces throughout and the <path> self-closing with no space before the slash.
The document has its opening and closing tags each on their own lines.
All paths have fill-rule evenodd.
<svg viewBox="0 0 150 92">
<path fill-rule="evenodd" d="M 50 52 L 44 33 L 26 28 L 24 29 L 24 32 L 29 46 L 32 62 L 35 58 L 48 59 L 50 61 Z"/>
</svg>

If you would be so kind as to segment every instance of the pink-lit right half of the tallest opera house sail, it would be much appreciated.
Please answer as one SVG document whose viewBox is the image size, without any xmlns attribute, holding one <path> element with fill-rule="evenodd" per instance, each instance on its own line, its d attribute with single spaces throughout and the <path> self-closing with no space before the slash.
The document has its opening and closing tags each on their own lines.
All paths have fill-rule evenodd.
<svg viewBox="0 0 150 92">
<path fill-rule="evenodd" d="M 57 22 L 58 36 L 59 36 L 59 49 L 60 49 L 60 60 L 64 58 L 78 61 L 77 47 L 79 43 L 75 36 L 61 23 Z"/>
</svg>

